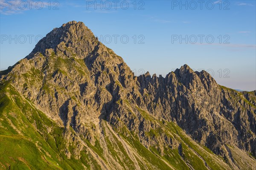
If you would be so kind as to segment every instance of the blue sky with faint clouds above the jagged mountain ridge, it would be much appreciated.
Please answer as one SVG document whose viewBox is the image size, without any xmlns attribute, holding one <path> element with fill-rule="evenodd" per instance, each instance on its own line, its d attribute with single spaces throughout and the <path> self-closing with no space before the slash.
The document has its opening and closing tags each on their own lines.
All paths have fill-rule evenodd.
<svg viewBox="0 0 256 170">
<path fill-rule="evenodd" d="M 220 85 L 256 90 L 255 0 L 34 1 L 0 0 L 0 69 L 26 57 L 53 28 L 76 20 L 137 75 L 165 77 L 188 64 Z"/>
</svg>

